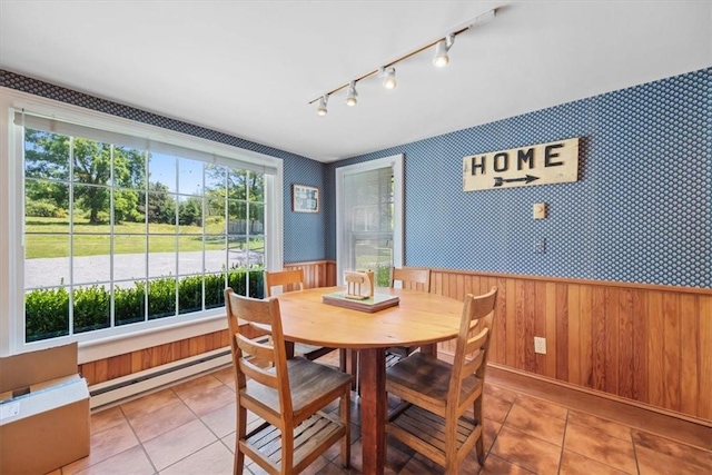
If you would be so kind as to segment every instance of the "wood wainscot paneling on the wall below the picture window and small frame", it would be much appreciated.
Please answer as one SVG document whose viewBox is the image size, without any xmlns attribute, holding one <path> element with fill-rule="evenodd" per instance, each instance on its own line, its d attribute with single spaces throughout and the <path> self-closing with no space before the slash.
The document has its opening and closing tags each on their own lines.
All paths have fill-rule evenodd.
<svg viewBox="0 0 712 475">
<path fill-rule="evenodd" d="M 286 269 L 304 268 L 305 287 L 329 287 L 336 285 L 336 263 L 318 260 L 313 263 L 287 264 Z M 227 326 L 227 323 L 226 323 Z M 155 368 L 214 349 L 230 345 L 227 329 L 181 339 L 169 344 L 88 362 L 79 365 L 79 374 L 87 378 L 89 386 L 106 383 L 134 373 Z"/>
</svg>

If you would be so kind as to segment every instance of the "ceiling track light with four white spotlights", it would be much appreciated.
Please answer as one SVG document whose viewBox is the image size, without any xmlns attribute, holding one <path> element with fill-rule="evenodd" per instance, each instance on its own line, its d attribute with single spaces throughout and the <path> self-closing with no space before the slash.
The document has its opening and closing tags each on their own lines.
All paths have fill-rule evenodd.
<svg viewBox="0 0 712 475">
<path fill-rule="evenodd" d="M 436 41 L 432 41 L 425 46 L 422 46 L 421 48 L 417 48 L 406 55 L 403 55 L 390 62 L 384 63 L 384 66 L 375 70 L 370 70 L 360 77 L 352 79 L 349 82 L 342 85 L 316 99 L 310 100 L 309 103 L 312 105 L 318 101 L 316 113 L 318 113 L 319 116 L 326 116 L 327 113 L 326 103 L 328 101 L 329 96 L 340 91 L 342 89 L 346 89 L 346 100 L 345 100 L 346 105 L 350 107 L 356 106 L 356 103 L 358 102 L 358 92 L 356 92 L 356 82 L 360 82 L 364 79 L 370 78 L 372 76 L 378 77 L 382 80 L 384 88 L 395 89 L 397 85 L 395 65 L 397 65 L 400 61 L 405 61 L 406 59 L 409 59 L 414 56 L 417 56 L 418 53 L 425 50 L 428 50 L 431 47 L 435 47 L 435 56 L 433 57 L 433 65 L 437 68 L 443 68 L 447 66 L 447 63 L 449 62 L 448 52 L 449 52 L 449 49 L 455 43 L 455 37 L 461 33 L 464 33 L 465 31 L 469 30 L 473 27 L 477 27 L 488 22 L 495 17 L 495 14 L 496 14 L 496 9 L 488 10 L 469 21 L 461 23 L 459 27 L 451 29 L 449 32 L 439 37 Z"/>
</svg>

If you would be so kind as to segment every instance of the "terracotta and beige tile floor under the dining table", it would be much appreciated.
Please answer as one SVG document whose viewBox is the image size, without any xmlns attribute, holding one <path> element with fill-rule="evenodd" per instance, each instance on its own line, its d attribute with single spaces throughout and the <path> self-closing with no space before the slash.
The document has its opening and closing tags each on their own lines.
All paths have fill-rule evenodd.
<svg viewBox="0 0 712 475">
<path fill-rule="evenodd" d="M 328 357 L 328 356 L 327 356 Z M 352 467 L 338 445 L 308 474 L 360 473 L 358 398 L 352 398 Z M 594 417 L 496 385 L 485 385 L 484 467 L 474 453 L 463 474 L 710 474 L 712 452 Z M 229 474 L 235 445 L 235 383 L 222 369 L 91 416 L 91 455 L 67 474 Z M 388 439 L 386 474 L 443 468 Z M 249 464 L 246 474 L 263 473 Z"/>
</svg>

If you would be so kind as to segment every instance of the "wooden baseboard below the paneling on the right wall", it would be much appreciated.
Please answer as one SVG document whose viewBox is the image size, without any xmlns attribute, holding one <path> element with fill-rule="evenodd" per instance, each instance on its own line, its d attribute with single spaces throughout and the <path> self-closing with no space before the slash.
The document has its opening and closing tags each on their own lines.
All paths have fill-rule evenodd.
<svg viewBox="0 0 712 475">
<path fill-rule="evenodd" d="M 704 451 L 712 451 L 710 420 L 673 414 L 496 364 L 487 365 L 487 382 L 643 432 L 674 438 Z"/>
</svg>

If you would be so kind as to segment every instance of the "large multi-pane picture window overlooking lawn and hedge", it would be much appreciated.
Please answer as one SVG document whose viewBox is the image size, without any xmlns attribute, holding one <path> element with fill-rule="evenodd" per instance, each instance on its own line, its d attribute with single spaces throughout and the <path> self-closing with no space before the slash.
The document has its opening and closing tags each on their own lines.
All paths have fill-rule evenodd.
<svg viewBox="0 0 712 475">
<path fill-rule="evenodd" d="M 263 297 L 276 168 L 27 111 L 11 127 L 21 344 L 199 318 L 227 286 Z"/>
</svg>

